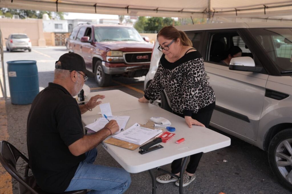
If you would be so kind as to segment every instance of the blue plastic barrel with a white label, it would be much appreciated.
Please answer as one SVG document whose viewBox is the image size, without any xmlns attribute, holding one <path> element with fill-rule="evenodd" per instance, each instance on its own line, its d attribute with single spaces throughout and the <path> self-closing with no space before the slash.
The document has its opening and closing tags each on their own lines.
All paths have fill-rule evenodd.
<svg viewBox="0 0 292 194">
<path fill-rule="evenodd" d="M 11 103 L 31 104 L 39 93 L 36 61 L 8 61 L 7 64 Z"/>
</svg>

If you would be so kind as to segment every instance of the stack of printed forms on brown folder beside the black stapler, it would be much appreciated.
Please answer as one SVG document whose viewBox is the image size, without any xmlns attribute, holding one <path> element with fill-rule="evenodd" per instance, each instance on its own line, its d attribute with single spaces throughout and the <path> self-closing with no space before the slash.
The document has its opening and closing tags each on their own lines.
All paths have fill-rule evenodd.
<svg viewBox="0 0 292 194">
<path fill-rule="evenodd" d="M 133 144 L 142 145 L 161 132 L 162 130 L 145 128 L 140 126 L 138 123 L 135 123 L 127 130 L 124 130 L 123 132 L 112 137 Z"/>
</svg>

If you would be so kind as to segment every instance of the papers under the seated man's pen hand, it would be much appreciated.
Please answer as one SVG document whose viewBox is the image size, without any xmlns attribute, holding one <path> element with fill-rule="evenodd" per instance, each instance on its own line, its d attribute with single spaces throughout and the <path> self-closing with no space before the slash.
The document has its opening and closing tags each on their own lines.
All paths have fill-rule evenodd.
<svg viewBox="0 0 292 194">
<path fill-rule="evenodd" d="M 119 125 L 119 131 L 117 131 L 115 134 L 120 133 L 122 129 L 126 127 L 126 124 L 129 120 L 129 116 L 112 116 L 108 117 L 109 120 L 116 120 Z M 105 117 L 99 118 L 94 123 L 88 124 L 85 126 L 87 130 L 93 130 L 95 132 L 101 130 L 105 127 L 106 124 L 108 124 L 108 120 Z"/>
</svg>

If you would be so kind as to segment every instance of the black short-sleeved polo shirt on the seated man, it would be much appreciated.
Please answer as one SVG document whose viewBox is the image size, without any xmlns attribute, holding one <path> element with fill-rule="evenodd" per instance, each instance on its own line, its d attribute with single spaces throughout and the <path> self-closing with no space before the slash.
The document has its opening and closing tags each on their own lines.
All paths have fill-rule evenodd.
<svg viewBox="0 0 292 194">
<path fill-rule="evenodd" d="M 77 101 L 62 86 L 49 83 L 34 99 L 27 118 L 29 165 L 37 184 L 62 193 L 85 154 L 74 156 L 68 146 L 83 137 Z"/>
</svg>

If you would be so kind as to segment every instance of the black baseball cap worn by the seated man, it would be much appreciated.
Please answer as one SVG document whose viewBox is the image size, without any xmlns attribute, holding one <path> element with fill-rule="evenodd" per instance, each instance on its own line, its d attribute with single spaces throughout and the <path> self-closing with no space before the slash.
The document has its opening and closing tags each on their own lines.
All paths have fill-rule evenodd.
<svg viewBox="0 0 292 194">
<path fill-rule="evenodd" d="M 73 52 L 65 53 L 59 58 L 58 61 L 61 62 L 61 65 L 55 64 L 56 69 L 82 71 L 88 77 L 94 77 L 94 73 L 86 69 L 85 61 L 79 54 Z M 58 61 L 56 61 L 56 63 Z"/>
</svg>

